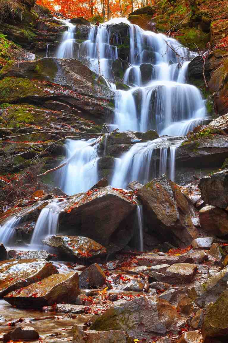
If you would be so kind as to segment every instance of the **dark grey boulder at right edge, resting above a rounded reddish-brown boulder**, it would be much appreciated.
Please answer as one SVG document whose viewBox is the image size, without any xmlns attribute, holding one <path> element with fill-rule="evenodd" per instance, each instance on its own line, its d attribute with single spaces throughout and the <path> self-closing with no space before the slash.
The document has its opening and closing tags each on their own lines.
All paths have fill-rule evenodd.
<svg viewBox="0 0 228 343">
<path fill-rule="evenodd" d="M 225 209 L 228 206 L 228 170 L 200 179 L 199 188 L 205 204 Z"/>
</svg>

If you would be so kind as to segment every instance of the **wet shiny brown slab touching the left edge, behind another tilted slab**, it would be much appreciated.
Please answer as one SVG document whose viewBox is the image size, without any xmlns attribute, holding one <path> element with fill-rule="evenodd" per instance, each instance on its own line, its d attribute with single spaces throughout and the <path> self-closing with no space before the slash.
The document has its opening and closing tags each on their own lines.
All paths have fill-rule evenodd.
<svg viewBox="0 0 228 343">
<path fill-rule="evenodd" d="M 0 262 L 0 296 L 56 273 L 54 265 L 43 259 Z"/>
</svg>

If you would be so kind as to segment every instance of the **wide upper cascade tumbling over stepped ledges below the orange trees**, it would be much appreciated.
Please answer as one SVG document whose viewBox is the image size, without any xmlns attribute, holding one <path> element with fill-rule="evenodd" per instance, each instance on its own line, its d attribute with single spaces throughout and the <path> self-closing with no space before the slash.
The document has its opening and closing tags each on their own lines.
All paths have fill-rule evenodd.
<svg viewBox="0 0 228 343">
<path fill-rule="evenodd" d="M 186 83 L 188 63 L 196 54 L 176 39 L 144 31 L 124 18 L 116 18 L 88 27 L 88 40 L 78 43 L 76 26 L 65 23 L 68 31 L 63 35 L 57 57 L 77 58 L 104 76 L 115 92 L 115 114 L 110 124 L 120 131 L 153 129 L 160 135 L 185 135 L 202 123 L 206 117 L 204 100 L 198 88 Z M 129 26 L 129 67 L 121 80 L 130 86 L 129 90 L 116 90 L 112 71 L 120 42 L 118 32 L 111 34 L 111 27 L 120 23 Z"/>
</svg>

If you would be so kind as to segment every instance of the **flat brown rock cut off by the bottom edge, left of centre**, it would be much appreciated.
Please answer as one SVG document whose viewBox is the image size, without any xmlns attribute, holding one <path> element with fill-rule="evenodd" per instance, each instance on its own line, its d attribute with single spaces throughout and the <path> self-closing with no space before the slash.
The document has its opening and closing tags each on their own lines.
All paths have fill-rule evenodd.
<svg viewBox="0 0 228 343">
<path fill-rule="evenodd" d="M 85 341 L 86 343 L 134 343 L 133 338 L 130 338 L 124 331 L 83 331 L 79 325 L 74 325 L 73 343 L 84 343 Z"/>
</svg>

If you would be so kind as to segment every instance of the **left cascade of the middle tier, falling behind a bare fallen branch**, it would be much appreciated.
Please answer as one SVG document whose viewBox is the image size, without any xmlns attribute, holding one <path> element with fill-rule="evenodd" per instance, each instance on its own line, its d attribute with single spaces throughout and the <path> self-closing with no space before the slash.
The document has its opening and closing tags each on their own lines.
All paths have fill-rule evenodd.
<svg viewBox="0 0 228 343">
<path fill-rule="evenodd" d="M 74 141 L 67 139 L 67 158 L 74 158 L 58 172 L 60 187 L 68 194 L 86 192 L 98 181 L 96 139 Z"/>
</svg>

